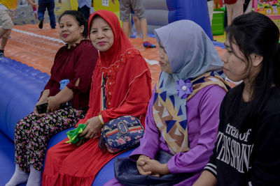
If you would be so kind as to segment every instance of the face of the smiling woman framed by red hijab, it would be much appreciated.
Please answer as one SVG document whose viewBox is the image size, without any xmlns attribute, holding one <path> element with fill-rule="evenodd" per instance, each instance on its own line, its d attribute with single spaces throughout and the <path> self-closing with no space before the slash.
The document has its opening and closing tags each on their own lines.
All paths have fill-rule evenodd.
<svg viewBox="0 0 280 186">
<path fill-rule="evenodd" d="M 90 27 L 90 40 L 92 45 L 100 52 L 108 51 L 113 45 L 113 31 L 111 26 L 102 18 L 92 20 Z"/>
</svg>

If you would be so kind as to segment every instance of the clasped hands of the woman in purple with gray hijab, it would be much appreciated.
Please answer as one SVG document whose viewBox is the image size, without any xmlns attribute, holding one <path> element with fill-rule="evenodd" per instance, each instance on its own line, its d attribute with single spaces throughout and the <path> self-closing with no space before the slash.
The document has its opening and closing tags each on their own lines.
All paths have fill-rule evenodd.
<svg viewBox="0 0 280 186">
<path fill-rule="evenodd" d="M 137 169 L 141 175 L 152 175 L 156 177 L 170 173 L 167 164 L 161 164 L 157 160 L 142 158 L 141 156 L 137 160 Z"/>
</svg>

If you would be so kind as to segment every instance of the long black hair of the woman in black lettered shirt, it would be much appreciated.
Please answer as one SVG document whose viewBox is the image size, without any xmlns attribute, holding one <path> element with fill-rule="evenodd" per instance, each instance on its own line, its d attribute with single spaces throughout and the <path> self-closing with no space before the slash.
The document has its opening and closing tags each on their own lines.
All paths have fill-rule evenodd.
<svg viewBox="0 0 280 186">
<path fill-rule="evenodd" d="M 242 130 L 248 129 L 251 123 L 258 121 L 273 86 L 280 86 L 280 50 L 279 50 L 279 29 L 269 19 L 260 13 L 248 13 L 236 17 L 226 29 L 230 42 L 235 43 L 246 57 L 247 69 L 251 68 L 250 54 L 257 54 L 263 57 L 262 68 L 251 84 L 251 101 L 248 103 L 246 113 L 242 114 L 242 121 L 237 127 Z M 238 110 L 240 96 L 244 89 L 244 83 L 237 86 L 237 94 L 230 100 L 230 115 Z M 230 120 L 233 119 L 230 117 Z"/>
</svg>

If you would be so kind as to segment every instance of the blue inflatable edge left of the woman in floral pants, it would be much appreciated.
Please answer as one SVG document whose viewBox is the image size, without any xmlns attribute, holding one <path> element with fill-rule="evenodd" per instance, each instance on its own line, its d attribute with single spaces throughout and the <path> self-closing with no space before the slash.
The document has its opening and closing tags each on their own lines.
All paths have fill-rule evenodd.
<svg viewBox="0 0 280 186">
<path fill-rule="evenodd" d="M 0 58 L 0 185 L 15 170 L 15 124 L 34 110 L 50 76 L 12 59 Z"/>
</svg>

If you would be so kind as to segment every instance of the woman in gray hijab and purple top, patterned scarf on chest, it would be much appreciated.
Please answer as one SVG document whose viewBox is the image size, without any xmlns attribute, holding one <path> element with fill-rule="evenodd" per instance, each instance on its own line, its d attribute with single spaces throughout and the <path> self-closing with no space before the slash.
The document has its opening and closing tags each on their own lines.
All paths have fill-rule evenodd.
<svg viewBox="0 0 280 186">
<path fill-rule="evenodd" d="M 229 87 L 218 75 L 223 62 L 213 43 L 190 20 L 155 29 L 155 36 L 162 73 L 149 102 L 145 134 L 132 161 L 115 162 L 116 179 L 106 185 L 193 185 L 214 148 Z"/>
</svg>

